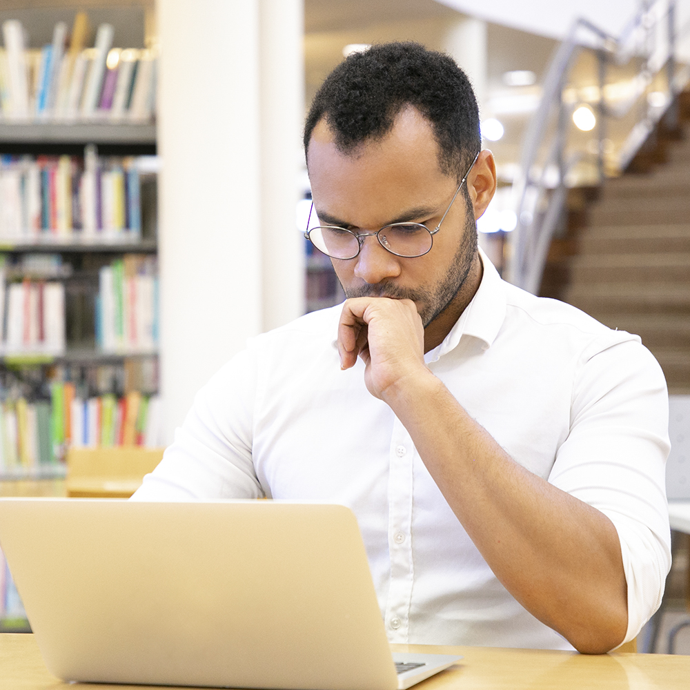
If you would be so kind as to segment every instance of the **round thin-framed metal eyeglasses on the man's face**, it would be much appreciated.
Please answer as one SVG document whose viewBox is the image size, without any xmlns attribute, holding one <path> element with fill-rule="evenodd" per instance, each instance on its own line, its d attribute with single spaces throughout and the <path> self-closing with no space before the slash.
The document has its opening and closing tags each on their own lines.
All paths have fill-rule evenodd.
<svg viewBox="0 0 690 690">
<path fill-rule="evenodd" d="M 460 184 L 455 190 L 451 203 L 446 208 L 446 213 L 443 214 L 439 224 L 433 229 L 429 230 L 426 225 L 422 223 L 391 223 L 386 225 L 375 233 L 355 233 L 353 230 L 340 228 L 335 225 L 322 225 L 309 229 L 309 221 L 311 221 L 311 213 L 314 210 L 314 202 L 311 202 L 309 209 L 309 217 L 306 221 L 307 230 L 304 237 L 308 239 L 320 252 L 324 253 L 333 259 L 354 259 L 362 250 L 362 244 L 367 237 L 376 236 L 379 244 L 391 254 L 397 257 L 405 257 L 406 259 L 413 259 L 415 257 L 424 256 L 431 250 L 433 246 L 433 236 L 441 229 L 441 224 L 446 215 L 448 215 L 455 197 L 460 192 L 460 188 L 464 184 L 470 170 L 477 162 L 479 154 L 475 156 L 471 166 L 467 168 Z"/>
</svg>

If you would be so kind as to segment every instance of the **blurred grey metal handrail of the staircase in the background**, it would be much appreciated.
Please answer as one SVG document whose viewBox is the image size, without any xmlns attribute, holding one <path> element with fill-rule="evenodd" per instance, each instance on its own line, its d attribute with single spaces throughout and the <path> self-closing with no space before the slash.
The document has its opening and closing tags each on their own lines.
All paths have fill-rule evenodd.
<svg viewBox="0 0 690 690">
<path fill-rule="evenodd" d="M 527 128 L 519 170 L 513 179 L 517 226 L 509 235 L 509 256 L 504 276 L 511 283 L 531 293 L 538 292 L 551 239 L 566 202 L 569 174 L 586 155 L 584 150 L 571 154 L 566 151 L 573 106 L 564 102 L 563 92 L 575 56 L 580 50 L 589 48 L 595 50 L 598 57 L 597 159 L 598 177 L 602 182 L 606 173 L 604 139 L 607 119 L 629 115 L 661 70 L 667 72 L 669 105 L 684 86 L 676 74 L 675 45 L 679 33 L 674 26 L 675 9 L 676 0 L 644 0 L 618 38 L 586 19 L 578 19 L 555 51 L 544 78 L 540 106 Z M 655 46 L 655 36 L 660 27 L 664 28 L 667 39 L 666 49 L 661 54 Z M 633 58 L 641 61 L 640 70 L 635 75 L 635 91 L 627 103 L 614 108 L 604 96 L 607 65 L 621 65 Z M 553 121 L 554 111 L 558 124 L 549 139 L 549 124 Z M 627 166 L 662 115 L 659 108 L 644 108 L 620 150 L 618 170 Z M 544 148 L 547 154 L 539 163 Z M 554 171 L 555 181 L 551 179 Z"/>
</svg>

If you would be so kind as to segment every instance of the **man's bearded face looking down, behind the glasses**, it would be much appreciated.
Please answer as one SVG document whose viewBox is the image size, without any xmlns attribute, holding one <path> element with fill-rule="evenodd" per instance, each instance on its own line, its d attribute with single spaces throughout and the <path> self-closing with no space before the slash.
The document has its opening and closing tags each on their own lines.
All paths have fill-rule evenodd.
<svg viewBox="0 0 690 690">
<path fill-rule="evenodd" d="M 383 139 L 366 141 L 349 154 L 337 150 L 331 130 L 320 121 L 309 144 L 308 167 L 319 221 L 362 232 L 399 221 L 433 230 L 458 184 L 440 170 L 431 125 L 411 107 L 400 112 Z M 354 259 L 333 259 L 346 296 L 412 299 L 426 327 L 453 300 L 477 260 L 473 211 L 468 213 L 461 190 L 431 251 L 422 257 L 397 257 L 367 237 Z"/>
</svg>

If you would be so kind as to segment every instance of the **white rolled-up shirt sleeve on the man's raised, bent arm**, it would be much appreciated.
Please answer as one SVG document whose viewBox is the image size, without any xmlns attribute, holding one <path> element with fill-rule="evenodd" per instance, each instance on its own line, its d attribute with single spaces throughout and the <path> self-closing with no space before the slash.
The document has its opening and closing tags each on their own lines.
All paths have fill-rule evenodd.
<svg viewBox="0 0 690 690">
<path fill-rule="evenodd" d="M 671 567 L 666 381 L 647 348 L 629 339 L 586 353 L 571 409 L 549 482 L 607 515 L 618 532 L 628 642 L 660 606 Z"/>
</svg>

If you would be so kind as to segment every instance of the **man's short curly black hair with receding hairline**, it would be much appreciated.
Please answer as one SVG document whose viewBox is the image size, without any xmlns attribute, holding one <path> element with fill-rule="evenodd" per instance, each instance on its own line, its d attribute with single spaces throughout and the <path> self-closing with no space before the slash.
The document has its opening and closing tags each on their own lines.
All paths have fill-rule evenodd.
<svg viewBox="0 0 690 690">
<path fill-rule="evenodd" d="M 304 154 L 323 117 L 338 150 L 350 153 L 367 139 L 384 137 L 406 105 L 431 123 L 442 172 L 460 179 L 482 146 L 477 99 L 451 57 L 420 43 L 382 43 L 342 61 L 311 104 Z"/>
</svg>

